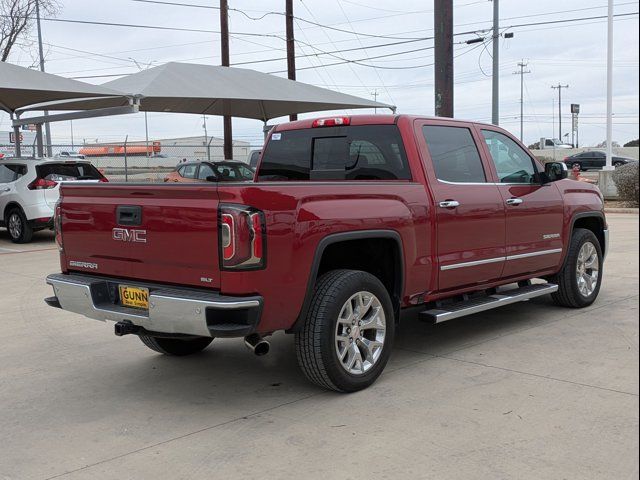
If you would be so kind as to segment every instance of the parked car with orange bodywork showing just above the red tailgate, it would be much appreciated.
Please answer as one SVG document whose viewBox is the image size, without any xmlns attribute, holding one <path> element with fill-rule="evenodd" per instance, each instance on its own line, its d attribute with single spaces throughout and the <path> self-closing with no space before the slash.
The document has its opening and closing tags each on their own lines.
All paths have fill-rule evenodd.
<svg viewBox="0 0 640 480">
<path fill-rule="evenodd" d="M 242 162 L 186 162 L 164 179 L 165 182 L 234 182 L 253 180 L 254 170 Z"/>
</svg>

